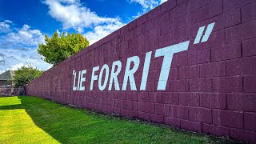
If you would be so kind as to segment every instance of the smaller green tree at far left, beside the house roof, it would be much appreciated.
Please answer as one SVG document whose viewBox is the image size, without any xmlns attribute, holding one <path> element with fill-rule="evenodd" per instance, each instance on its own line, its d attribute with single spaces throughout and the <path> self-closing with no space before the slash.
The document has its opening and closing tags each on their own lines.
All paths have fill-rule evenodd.
<svg viewBox="0 0 256 144">
<path fill-rule="evenodd" d="M 22 68 L 15 70 L 13 82 L 15 87 L 26 86 L 34 78 L 38 78 L 43 71 L 38 70 L 37 67 L 28 63 L 27 66 L 22 66 Z"/>
</svg>

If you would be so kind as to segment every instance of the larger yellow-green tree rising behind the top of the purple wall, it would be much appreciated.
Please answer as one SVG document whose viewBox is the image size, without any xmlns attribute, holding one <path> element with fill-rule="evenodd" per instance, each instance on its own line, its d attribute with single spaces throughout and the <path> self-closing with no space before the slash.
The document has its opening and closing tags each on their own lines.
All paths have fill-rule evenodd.
<svg viewBox="0 0 256 144">
<path fill-rule="evenodd" d="M 46 44 L 38 45 L 38 53 L 44 56 L 43 60 L 53 65 L 64 61 L 78 51 L 89 46 L 89 42 L 82 34 L 62 33 L 56 31 L 52 38 L 45 35 Z"/>
</svg>

